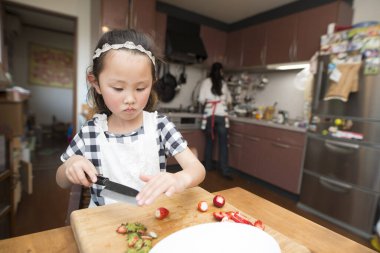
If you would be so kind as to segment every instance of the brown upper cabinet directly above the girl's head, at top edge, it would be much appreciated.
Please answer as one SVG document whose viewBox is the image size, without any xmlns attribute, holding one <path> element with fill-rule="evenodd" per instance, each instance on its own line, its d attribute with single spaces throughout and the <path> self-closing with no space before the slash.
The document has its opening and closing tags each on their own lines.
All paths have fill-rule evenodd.
<svg viewBox="0 0 380 253">
<path fill-rule="evenodd" d="M 102 27 L 133 28 L 155 36 L 155 0 L 102 0 Z"/>
</svg>

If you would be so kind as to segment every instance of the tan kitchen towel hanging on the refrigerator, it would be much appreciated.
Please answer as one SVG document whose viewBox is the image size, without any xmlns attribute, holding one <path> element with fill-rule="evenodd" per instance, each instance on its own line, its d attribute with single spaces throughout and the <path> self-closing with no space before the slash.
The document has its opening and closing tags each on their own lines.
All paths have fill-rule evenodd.
<svg viewBox="0 0 380 253">
<path fill-rule="evenodd" d="M 324 100 L 338 99 L 347 102 L 351 92 L 359 91 L 359 69 L 361 63 L 339 64 L 336 68 L 341 73 L 337 82 L 331 81 Z"/>
</svg>

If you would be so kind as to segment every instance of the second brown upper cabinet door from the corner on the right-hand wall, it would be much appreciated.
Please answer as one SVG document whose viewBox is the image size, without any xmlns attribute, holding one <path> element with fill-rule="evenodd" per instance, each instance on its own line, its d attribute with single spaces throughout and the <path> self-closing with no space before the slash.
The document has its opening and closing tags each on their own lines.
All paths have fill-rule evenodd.
<svg viewBox="0 0 380 253">
<path fill-rule="evenodd" d="M 243 66 L 265 65 L 266 24 L 243 29 Z"/>
</svg>

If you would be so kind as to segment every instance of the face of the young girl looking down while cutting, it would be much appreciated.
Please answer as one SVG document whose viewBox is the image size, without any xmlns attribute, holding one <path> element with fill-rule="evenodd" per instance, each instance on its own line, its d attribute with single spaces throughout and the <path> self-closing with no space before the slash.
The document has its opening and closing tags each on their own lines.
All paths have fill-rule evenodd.
<svg viewBox="0 0 380 253">
<path fill-rule="evenodd" d="M 94 87 L 114 117 L 133 120 L 142 113 L 152 89 L 151 64 L 148 56 L 126 50 L 110 50 L 104 57 Z"/>
</svg>

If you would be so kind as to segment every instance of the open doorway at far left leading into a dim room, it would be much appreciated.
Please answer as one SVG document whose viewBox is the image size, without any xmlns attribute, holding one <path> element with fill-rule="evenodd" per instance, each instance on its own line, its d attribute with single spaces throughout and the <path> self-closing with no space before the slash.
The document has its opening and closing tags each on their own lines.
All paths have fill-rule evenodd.
<svg viewBox="0 0 380 253">
<path fill-rule="evenodd" d="M 76 126 L 78 21 L 76 17 L 18 3 L 0 3 L 4 24 L 3 64 L 11 74 L 14 86 L 31 91 L 26 106 L 28 129 L 33 121 L 30 119 L 34 119 L 34 124 L 42 132 L 34 132 L 37 135 L 36 149 L 30 155 L 32 193 L 26 192 L 22 184 L 22 192 L 14 191 L 13 194 L 15 218 L 11 236 L 20 236 L 65 225 L 69 190 L 59 188 L 55 182 L 55 173 L 61 164 L 59 157 L 67 147 L 67 126 Z M 34 66 L 41 67 L 36 68 L 40 70 L 37 71 L 37 77 L 48 75 L 44 79 L 46 82 L 35 78 L 31 65 L 37 60 L 32 61 L 32 52 L 37 52 L 35 54 L 38 57 L 46 60 L 47 66 L 59 62 L 62 55 L 71 55 L 71 70 L 66 65 L 61 69 L 68 69 L 63 76 L 71 77 L 72 85 L 65 86 L 65 82 L 59 79 L 60 76 L 55 75 L 61 69 L 55 69 L 51 73 L 48 68 L 43 68 L 43 64 Z M 57 80 L 59 82 L 54 82 Z M 29 174 L 27 178 L 30 178 Z"/>
</svg>

